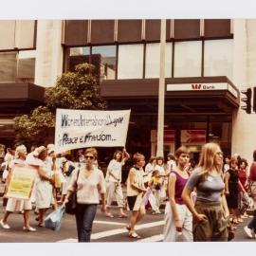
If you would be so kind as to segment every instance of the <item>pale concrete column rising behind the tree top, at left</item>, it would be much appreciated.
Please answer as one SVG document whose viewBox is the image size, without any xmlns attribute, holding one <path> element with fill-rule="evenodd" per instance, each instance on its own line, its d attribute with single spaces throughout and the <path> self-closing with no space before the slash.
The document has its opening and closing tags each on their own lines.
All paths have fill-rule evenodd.
<svg viewBox="0 0 256 256">
<path fill-rule="evenodd" d="M 63 72 L 62 21 L 39 20 L 37 27 L 35 84 L 54 86 Z"/>
</svg>

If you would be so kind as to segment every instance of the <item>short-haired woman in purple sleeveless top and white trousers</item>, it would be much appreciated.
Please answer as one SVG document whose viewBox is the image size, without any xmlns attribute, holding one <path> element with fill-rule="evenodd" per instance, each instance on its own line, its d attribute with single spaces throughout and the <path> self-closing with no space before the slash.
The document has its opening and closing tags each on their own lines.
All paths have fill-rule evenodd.
<svg viewBox="0 0 256 256">
<path fill-rule="evenodd" d="M 183 189 L 189 179 L 190 151 L 179 147 L 175 156 L 177 166 L 171 171 L 168 182 L 169 201 L 165 206 L 164 242 L 175 242 L 182 233 L 182 239 L 192 242 L 192 213 L 184 204 L 181 197 Z"/>
</svg>

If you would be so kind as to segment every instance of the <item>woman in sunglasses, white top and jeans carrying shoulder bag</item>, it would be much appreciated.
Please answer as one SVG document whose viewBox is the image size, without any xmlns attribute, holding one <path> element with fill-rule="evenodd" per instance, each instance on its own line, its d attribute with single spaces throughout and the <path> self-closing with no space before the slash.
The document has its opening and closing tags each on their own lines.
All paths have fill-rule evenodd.
<svg viewBox="0 0 256 256">
<path fill-rule="evenodd" d="M 106 210 L 104 175 L 94 165 L 97 156 L 98 153 L 95 148 L 85 150 L 85 165 L 73 171 L 68 192 L 64 200 L 64 204 L 66 204 L 72 192 L 77 191 L 75 214 L 79 242 L 90 242 L 93 220 L 96 215 L 97 206 L 100 203 L 100 196 L 102 202 L 101 210 L 103 212 Z"/>
</svg>

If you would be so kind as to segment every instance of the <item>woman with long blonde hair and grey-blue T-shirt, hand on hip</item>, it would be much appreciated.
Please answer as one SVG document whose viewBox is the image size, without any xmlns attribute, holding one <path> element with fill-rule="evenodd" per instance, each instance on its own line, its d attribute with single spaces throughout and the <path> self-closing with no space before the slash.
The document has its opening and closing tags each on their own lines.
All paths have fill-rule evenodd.
<svg viewBox="0 0 256 256">
<path fill-rule="evenodd" d="M 216 143 L 203 146 L 198 167 L 187 182 L 182 198 L 192 211 L 193 241 L 228 241 L 229 209 L 224 195 L 223 153 Z M 191 193 L 196 189 L 193 206 Z"/>
</svg>

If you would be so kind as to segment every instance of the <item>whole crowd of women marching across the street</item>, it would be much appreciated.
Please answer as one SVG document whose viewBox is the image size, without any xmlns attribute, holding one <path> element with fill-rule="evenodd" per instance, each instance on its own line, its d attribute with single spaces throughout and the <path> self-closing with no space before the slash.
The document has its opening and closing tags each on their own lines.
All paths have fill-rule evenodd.
<svg viewBox="0 0 256 256">
<path fill-rule="evenodd" d="M 1 166 L 5 192 L 17 166 L 33 168 L 36 178 L 29 199 L 8 199 L 0 226 L 11 229 L 9 215 L 19 212 L 24 215 L 25 231 L 44 228 L 46 210 L 65 206 L 76 193 L 79 242 L 90 241 L 100 203 L 106 218 L 115 217 L 111 209 L 115 198 L 118 217 L 127 218 L 125 229 L 131 238 L 140 238 L 137 222 L 146 213 L 164 213 L 164 242 L 229 241 L 236 225 L 249 217 L 247 210 L 254 209 L 256 151 L 249 167 L 241 155 L 224 157 L 220 146 L 211 142 L 202 147 L 197 165 L 190 156 L 189 149 L 181 146 L 174 155 L 168 155 L 166 163 L 162 156 L 152 156 L 145 165 L 144 155 L 117 150 L 106 172 L 102 172 L 95 148 L 79 150 L 76 160 L 70 153 L 57 155 L 53 144 L 33 147 L 28 154 L 25 145 L 8 148 Z M 122 167 L 129 158 L 133 165 L 127 180 L 122 181 Z M 37 227 L 30 226 L 31 210 L 37 214 Z M 131 211 L 129 219 L 126 210 Z M 244 228 L 249 238 L 256 237 L 256 210 L 253 214 Z"/>
</svg>

